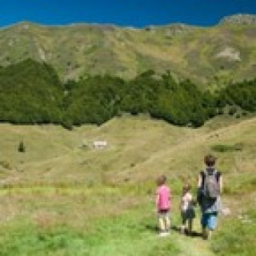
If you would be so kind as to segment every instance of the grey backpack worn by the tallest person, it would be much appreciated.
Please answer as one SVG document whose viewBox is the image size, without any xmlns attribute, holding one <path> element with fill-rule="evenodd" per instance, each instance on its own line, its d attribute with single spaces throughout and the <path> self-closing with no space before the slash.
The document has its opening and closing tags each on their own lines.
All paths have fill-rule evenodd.
<svg viewBox="0 0 256 256">
<path fill-rule="evenodd" d="M 218 183 L 218 172 L 216 170 L 204 170 L 204 182 L 202 186 L 205 198 L 216 199 L 220 195 L 220 186 Z"/>
</svg>

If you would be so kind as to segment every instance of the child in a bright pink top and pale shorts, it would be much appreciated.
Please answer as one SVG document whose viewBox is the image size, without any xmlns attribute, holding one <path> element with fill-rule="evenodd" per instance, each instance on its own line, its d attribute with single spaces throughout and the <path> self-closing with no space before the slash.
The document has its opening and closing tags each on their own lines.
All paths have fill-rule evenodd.
<svg viewBox="0 0 256 256">
<path fill-rule="evenodd" d="M 156 207 L 158 211 L 159 235 L 170 234 L 170 188 L 166 186 L 166 176 L 161 175 L 157 180 Z"/>
</svg>

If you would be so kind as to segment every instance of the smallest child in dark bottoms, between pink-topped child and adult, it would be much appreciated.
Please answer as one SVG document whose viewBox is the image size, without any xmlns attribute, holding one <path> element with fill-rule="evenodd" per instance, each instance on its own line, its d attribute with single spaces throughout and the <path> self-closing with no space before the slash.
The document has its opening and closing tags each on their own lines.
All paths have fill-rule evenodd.
<svg viewBox="0 0 256 256">
<path fill-rule="evenodd" d="M 182 227 L 181 233 L 185 234 L 187 227 L 187 234 L 191 234 L 193 228 L 194 214 L 194 200 L 190 193 L 190 185 L 186 184 L 182 188 L 182 199 L 180 204 L 181 215 L 182 215 Z"/>
</svg>

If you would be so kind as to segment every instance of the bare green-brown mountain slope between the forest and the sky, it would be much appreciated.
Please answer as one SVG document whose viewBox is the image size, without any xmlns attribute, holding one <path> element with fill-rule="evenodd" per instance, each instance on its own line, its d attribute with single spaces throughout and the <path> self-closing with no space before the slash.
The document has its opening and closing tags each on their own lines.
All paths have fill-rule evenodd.
<svg viewBox="0 0 256 256">
<path fill-rule="evenodd" d="M 0 30 L 0 65 L 33 58 L 54 66 L 62 80 L 105 73 L 134 78 L 149 69 L 171 70 L 178 78 L 206 84 L 254 77 L 255 47 L 254 15 L 234 15 L 207 28 L 22 22 Z"/>
</svg>

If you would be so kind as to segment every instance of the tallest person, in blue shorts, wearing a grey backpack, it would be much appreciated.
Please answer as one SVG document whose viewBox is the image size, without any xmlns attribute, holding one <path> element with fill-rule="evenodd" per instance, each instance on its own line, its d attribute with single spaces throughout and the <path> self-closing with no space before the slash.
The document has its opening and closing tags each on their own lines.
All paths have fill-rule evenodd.
<svg viewBox="0 0 256 256">
<path fill-rule="evenodd" d="M 222 203 L 222 174 L 216 170 L 216 158 L 208 154 L 204 158 L 206 169 L 198 175 L 198 204 L 202 211 L 202 238 L 210 238 L 216 228 L 218 213 Z"/>
</svg>

